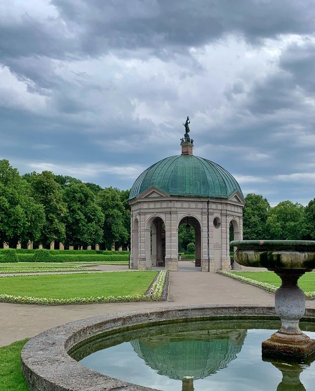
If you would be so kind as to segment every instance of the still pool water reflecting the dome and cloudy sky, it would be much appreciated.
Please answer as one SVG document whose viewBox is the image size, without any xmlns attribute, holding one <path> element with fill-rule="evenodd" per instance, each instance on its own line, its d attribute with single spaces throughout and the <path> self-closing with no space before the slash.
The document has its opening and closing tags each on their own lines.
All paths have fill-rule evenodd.
<svg viewBox="0 0 315 391">
<path fill-rule="evenodd" d="M 82 365 L 165 391 L 313 391 L 315 361 L 263 361 L 261 342 L 275 321 L 203 321 L 103 334 L 75 347 Z M 315 338 L 315 324 L 300 322 Z"/>
</svg>

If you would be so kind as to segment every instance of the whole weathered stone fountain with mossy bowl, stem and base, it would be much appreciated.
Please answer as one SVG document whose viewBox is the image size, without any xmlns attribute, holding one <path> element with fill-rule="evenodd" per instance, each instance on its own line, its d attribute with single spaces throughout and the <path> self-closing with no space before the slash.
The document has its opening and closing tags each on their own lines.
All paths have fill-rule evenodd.
<svg viewBox="0 0 315 391">
<path fill-rule="evenodd" d="M 267 268 L 282 280 L 275 294 L 281 328 L 262 342 L 263 356 L 303 359 L 315 352 L 315 340 L 299 328 L 305 313 L 305 295 L 297 285 L 315 268 L 315 241 L 232 241 L 234 257 L 243 266 Z"/>
</svg>

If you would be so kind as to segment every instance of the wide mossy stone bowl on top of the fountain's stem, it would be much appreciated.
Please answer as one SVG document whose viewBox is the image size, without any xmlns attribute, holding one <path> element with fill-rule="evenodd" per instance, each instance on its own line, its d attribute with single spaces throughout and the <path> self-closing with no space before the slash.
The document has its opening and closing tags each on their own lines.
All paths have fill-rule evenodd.
<svg viewBox="0 0 315 391">
<path fill-rule="evenodd" d="M 268 270 L 315 269 L 315 241 L 231 241 L 235 261 L 243 266 Z"/>
</svg>

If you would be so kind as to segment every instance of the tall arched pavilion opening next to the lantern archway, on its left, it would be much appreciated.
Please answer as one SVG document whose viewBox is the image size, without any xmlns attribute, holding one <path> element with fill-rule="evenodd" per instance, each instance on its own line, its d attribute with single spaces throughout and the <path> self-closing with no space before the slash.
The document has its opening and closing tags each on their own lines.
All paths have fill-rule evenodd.
<svg viewBox="0 0 315 391">
<path fill-rule="evenodd" d="M 149 222 L 150 224 L 150 222 Z M 150 224 L 150 262 L 153 267 L 165 267 L 165 224 L 155 217 Z"/>
</svg>

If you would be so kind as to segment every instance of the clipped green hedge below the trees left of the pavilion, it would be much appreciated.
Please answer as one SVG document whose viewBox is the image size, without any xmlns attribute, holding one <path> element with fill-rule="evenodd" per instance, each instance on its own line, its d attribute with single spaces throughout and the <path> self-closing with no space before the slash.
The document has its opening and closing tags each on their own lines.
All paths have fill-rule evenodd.
<svg viewBox="0 0 315 391">
<path fill-rule="evenodd" d="M 8 262 L 117 262 L 128 261 L 129 254 L 65 254 L 52 255 L 50 250 L 34 250 L 33 253 L 16 253 L 14 249 L 5 249 L 0 252 L 0 263 Z"/>
</svg>

